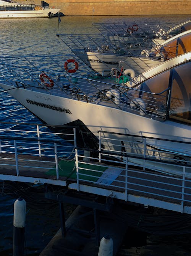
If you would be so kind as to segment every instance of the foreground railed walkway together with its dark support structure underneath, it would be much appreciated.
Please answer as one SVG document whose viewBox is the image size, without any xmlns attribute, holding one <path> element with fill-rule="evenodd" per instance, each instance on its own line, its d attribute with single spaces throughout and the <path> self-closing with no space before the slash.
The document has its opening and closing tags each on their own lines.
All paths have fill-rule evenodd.
<svg viewBox="0 0 191 256">
<path fill-rule="evenodd" d="M 40 256 L 97 256 L 105 235 L 112 237 L 115 255 L 128 230 L 126 209 L 132 205 L 191 214 L 189 159 L 159 160 L 151 148 L 152 156 L 146 155 L 140 138 L 139 154 L 131 154 L 78 148 L 75 132 L 73 144 L 58 134 L 30 137 L 25 132 L 27 136 L 13 130 L 0 135 L 0 179 L 44 184 L 45 197 L 58 201 L 61 229 Z M 77 206 L 67 221 L 64 203 Z"/>
</svg>

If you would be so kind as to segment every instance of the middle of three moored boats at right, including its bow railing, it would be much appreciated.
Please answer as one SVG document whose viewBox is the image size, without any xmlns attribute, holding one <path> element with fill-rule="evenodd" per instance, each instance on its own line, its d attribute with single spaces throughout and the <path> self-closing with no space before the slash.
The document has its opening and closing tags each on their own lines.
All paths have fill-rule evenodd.
<svg viewBox="0 0 191 256">
<path fill-rule="evenodd" d="M 160 46 L 150 45 L 150 49 L 148 43 L 147 48 L 144 48 L 144 45 L 136 41 L 134 44 L 126 45 L 126 48 L 116 48 L 109 41 L 105 41 L 104 45 L 104 36 L 97 34 L 61 35 L 59 38 L 67 43 L 79 59 L 99 74 L 110 74 L 113 68 L 120 73 L 123 68 L 129 70 L 128 74 L 132 78 L 162 61 L 191 51 L 191 30 L 169 38 Z M 100 41 L 95 38 L 99 38 Z M 123 66 L 120 66 L 120 61 L 123 61 Z"/>
</svg>

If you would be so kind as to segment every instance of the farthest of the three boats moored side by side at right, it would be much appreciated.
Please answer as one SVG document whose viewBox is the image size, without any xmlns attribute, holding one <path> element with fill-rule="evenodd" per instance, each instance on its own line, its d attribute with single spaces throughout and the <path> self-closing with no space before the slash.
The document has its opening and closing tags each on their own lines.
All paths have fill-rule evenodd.
<svg viewBox="0 0 191 256">
<path fill-rule="evenodd" d="M 161 45 L 165 40 L 172 36 L 180 34 L 191 29 L 191 20 L 187 20 L 178 25 L 169 25 L 167 23 L 94 23 L 105 37 L 111 41 L 113 45 L 125 47 L 130 43 L 145 43 L 146 41 L 152 45 Z"/>
</svg>

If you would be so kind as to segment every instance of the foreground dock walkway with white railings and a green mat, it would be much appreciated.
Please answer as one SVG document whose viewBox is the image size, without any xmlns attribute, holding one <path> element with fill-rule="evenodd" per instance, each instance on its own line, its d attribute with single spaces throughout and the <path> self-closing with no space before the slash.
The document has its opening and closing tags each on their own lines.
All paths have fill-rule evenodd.
<svg viewBox="0 0 191 256">
<path fill-rule="evenodd" d="M 72 144 L 66 154 L 63 148 L 66 140 L 55 137 L 1 135 L 0 139 L 1 180 L 47 183 L 66 190 L 191 213 L 191 165 L 188 161 L 184 164 L 140 153 L 78 149 Z M 142 142 L 136 143 L 142 150 Z M 88 150 L 93 157 L 84 155 Z M 156 154 L 155 149 L 149 148 L 149 152 Z"/>
</svg>

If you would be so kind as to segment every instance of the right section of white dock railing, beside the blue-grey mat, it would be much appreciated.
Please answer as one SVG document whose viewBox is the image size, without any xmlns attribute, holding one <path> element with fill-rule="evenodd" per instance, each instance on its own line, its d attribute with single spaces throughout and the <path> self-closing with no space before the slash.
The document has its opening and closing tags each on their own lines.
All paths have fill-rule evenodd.
<svg viewBox="0 0 191 256">
<path fill-rule="evenodd" d="M 157 142 L 156 138 L 125 134 L 121 141 L 111 137 L 116 134 L 101 133 L 104 132 L 100 132 L 100 148 L 91 152 L 93 156 L 87 153 L 84 157 L 76 156 L 78 191 L 87 191 L 89 186 L 95 194 L 108 195 L 109 191 L 115 198 L 125 201 L 133 197 L 133 201 L 139 202 L 142 198 L 144 205 L 148 200 L 149 204 L 160 201 L 157 207 L 171 205 L 169 210 L 191 213 L 187 209 L 191 206 L 190 142 L 160 139 Z M 168 143 L 168 147 L 162 148 L 161 142 Z M 184 144 L 186 153 L 181 150 Z M 107 145 L 107 149 L 103 145 Z"/>
</svg>

